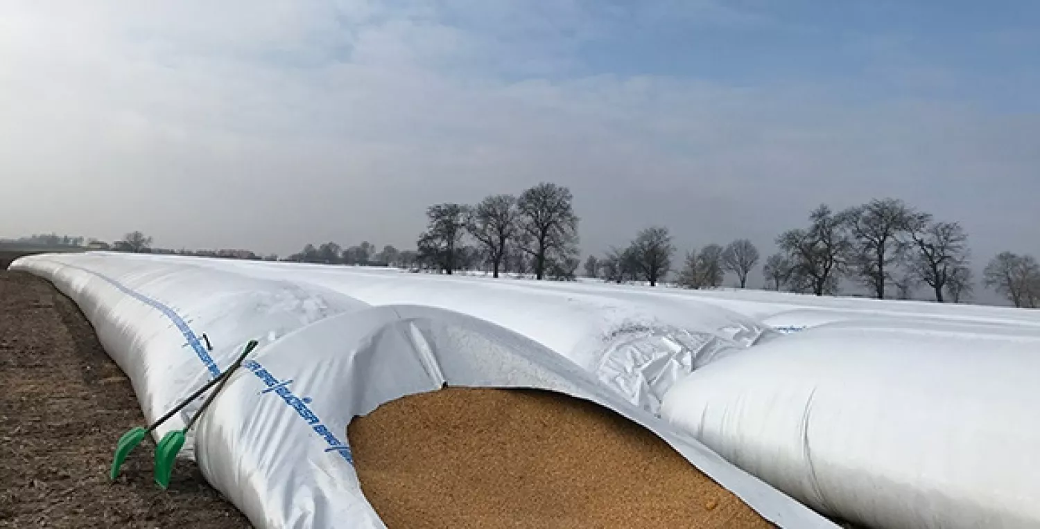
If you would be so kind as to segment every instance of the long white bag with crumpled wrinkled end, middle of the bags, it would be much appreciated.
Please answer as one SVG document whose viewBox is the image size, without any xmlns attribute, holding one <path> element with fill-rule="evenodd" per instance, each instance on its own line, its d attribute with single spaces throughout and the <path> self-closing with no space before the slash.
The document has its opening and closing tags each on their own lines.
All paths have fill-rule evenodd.
<svg viewBox="0 0 1040 529">
<path fill-rule="evenodd" d="M 353 267 L 191 261 L 252 277 L 291 277 L 372 306 L 421 305 L 473 316 L 570 359 L 651 413 L 672 383 L 693 369 L 779 336 L 764 323 L 686 295 Z"/>
</svg>

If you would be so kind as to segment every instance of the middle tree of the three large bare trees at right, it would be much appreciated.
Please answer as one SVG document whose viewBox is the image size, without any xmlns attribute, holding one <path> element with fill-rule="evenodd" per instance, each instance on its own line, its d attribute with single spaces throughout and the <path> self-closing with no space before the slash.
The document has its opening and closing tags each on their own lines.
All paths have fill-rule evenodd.
<svg viewBox="0 0 1040 529">
<path fill-rule="evenodd" d="M 914 213 L 903 201 L 875 199 L 841 215 L 851 235 L 851 271 L 883 299 L 885 285 L 893 279 L 892 269 L 905 249 L 904 234 Z"/>
</svg>

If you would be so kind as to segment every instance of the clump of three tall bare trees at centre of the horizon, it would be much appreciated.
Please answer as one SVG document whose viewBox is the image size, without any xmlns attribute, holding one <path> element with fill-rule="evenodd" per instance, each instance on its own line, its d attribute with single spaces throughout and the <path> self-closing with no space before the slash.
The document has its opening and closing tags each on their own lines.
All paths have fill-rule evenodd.
<svg viewBox="0 0 1040 529">
<path fill-rule="evenodd" d="M 444 273 L 470 268 L 475 260 L 495 277 L 505 269 L 529 269 L 539 280 L 573 279 L 578 217 L 572 202 L 567 187 L 542 182 L 519 196 L 495 194 L 472 206 L 436 204 L 426 209 L 418 260 Z"/>
</svg>

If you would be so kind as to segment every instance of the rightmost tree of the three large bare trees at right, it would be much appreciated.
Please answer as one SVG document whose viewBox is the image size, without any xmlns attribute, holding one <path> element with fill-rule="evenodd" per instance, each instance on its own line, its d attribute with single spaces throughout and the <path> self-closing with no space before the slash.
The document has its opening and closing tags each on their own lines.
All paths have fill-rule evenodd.
<svg viewBox="0 0 1040 529">
<path fill-rule="evenodd" d="M 954 270 L 967 266 L 968 236 L 957 222 L 935 222 L 927 213 L 913 216 L 908 233 L 912 254 L 911 269 L 935 293 L 935 300 L 944 301 L 943 291 Z"/>
</svg>

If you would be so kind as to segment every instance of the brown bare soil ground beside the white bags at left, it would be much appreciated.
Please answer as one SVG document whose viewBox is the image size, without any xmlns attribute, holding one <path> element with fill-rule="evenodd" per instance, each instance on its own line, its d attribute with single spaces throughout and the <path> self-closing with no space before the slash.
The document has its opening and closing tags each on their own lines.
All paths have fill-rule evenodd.
<svg viewBox="0 0 1040 529">
<path fill-rule="evenodd" d="M 144 422 L 76 305 L 44 280 L 0 269 L 0 528 L 250 527 L 193 464 L 178 461 L 159 490 L 150 441 L 110 482 L 115 441 Z"/>
</svg>

